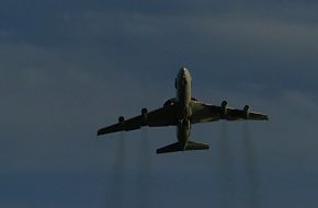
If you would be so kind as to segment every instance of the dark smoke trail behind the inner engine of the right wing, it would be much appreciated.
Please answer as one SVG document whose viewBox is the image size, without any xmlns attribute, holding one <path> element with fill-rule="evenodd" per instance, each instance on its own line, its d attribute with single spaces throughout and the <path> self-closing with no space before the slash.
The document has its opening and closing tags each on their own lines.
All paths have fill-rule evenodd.
<svg viewBox="0 0 318 208">
<path fill-rule="evenodd" d="M 229 137 L 226 122 L 222 122 L 220 126 L 220 173 L 222 173 L 222 207 L 229 208 L 232 199 L 232 177 L 230 176 L 230 150 L 229 150 Z"/>
</svg>

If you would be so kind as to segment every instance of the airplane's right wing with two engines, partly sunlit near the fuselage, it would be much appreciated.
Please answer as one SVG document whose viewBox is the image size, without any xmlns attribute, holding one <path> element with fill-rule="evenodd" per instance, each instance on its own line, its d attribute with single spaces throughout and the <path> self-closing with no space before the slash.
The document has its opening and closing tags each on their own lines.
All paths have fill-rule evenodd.
<svg viewBox="0 0 318 208">
<path fill-rule="evenodd" d="M 243 109 L 235 109 L 227 107 L 227 103 L 223 102 L 220 106 L 209 105 L 202 102 L 193 101 L 192 103 L 192 124 L 208 123 L 219 119 L 226 120 L 268 120 L 269 116 L 261 113 L 249 112 L 249 106 Z"/>
</svg>

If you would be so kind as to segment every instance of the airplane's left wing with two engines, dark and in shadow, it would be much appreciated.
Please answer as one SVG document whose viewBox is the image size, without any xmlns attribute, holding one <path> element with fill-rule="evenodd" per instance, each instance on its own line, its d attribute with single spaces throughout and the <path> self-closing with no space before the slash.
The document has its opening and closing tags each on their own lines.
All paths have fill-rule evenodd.
<svg viewBox="0 0 318 208">
<path fill-rule="evenodd" d="M 149 113 L 147 113 L 145 109 L 141 115 L 129 118 L 127 120 L 124 120 L 122 117 L 122 120 L 120 120 L 117 124 L 101 128 L 98 131 L 98 136 L 124 130 L 135 130 L 141 128 L 143 126 L 174 126 L 177 125 L 177 107 L 174 105 L 169 105 Z"/>
</svg>

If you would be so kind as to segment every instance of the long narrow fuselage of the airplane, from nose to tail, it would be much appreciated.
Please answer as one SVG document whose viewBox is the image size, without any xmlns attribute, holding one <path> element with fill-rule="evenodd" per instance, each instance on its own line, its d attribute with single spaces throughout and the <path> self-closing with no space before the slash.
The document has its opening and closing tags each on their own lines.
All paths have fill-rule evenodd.
<svg viewBox="0 0 318 208">
<path fill-rule="evenodd" d="M 181 68 L 175 79 L 175 101 L 180 105 L 180 117 L 177 125 L 177 138 L 184 150 L 191 135 L 191 88 L 192 78 L 188 69 Z"/>
</svg>

